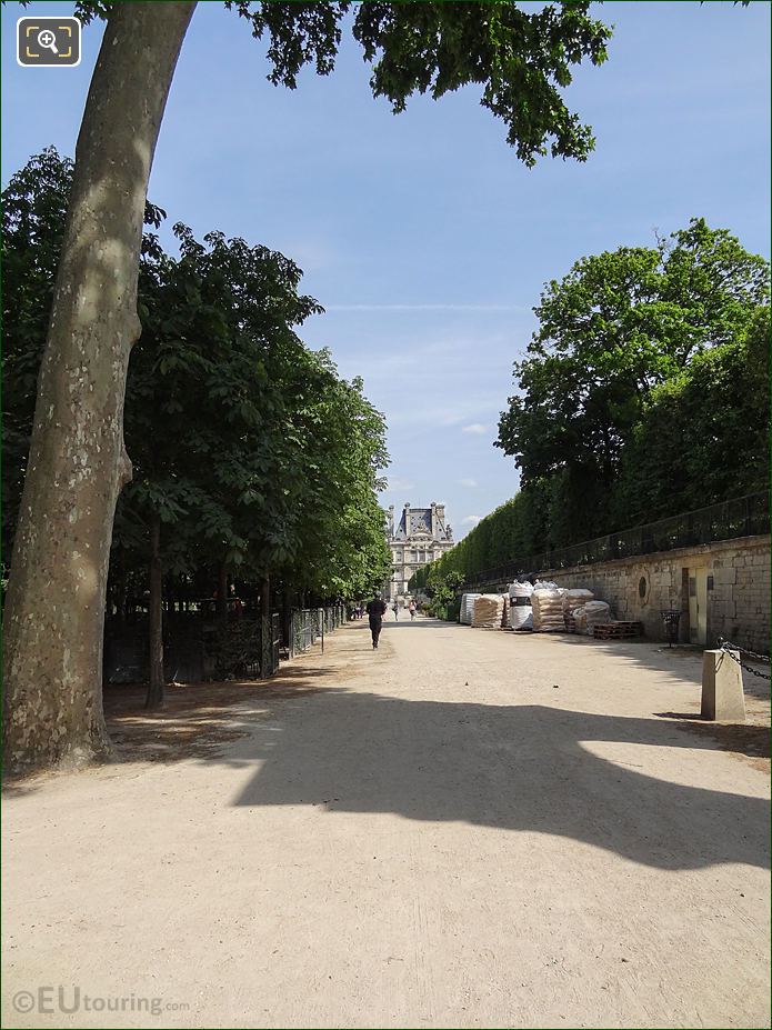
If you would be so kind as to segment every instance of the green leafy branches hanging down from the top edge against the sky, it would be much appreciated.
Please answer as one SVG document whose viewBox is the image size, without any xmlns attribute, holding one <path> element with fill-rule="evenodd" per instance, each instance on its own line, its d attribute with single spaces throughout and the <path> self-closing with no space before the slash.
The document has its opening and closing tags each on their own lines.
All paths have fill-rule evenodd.
<svg viewBox="0 0 772 1030">
<path fill-rule="evenodd" d="M 594 148 L 589 126 L 571 112 L 563 90 L 572 68 L 608 57 L 611 28 L 589 14 L 589 0 L 527 10 L 513 0 L 224 0 L 257 39 L 268 38 L 271 82 L 295 89 L 307 64 L 330 74 L 344 28 L 372 67 L 373 97 L 394 113 L 414 93 L 434 100 L 464 86 L 482 88 L 481 104 L 507 126 L 507 141 L 533 166 L 539 157 L 586 160 Z M 80 0 L 89 23 L 108 18 L 113 4 Z"/>
</svg>

